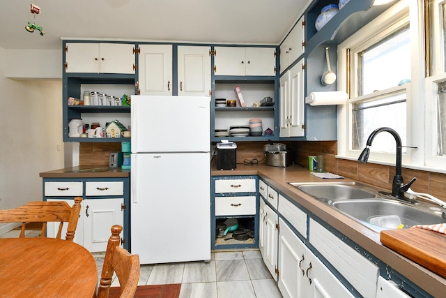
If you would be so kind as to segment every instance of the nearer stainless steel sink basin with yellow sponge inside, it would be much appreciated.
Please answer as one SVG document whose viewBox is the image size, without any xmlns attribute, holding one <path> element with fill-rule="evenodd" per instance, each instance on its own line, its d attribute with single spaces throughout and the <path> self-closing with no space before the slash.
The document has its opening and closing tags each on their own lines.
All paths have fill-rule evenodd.
<svg viewBox="0 0 446 298">
<path fill-rule="evenodd" d="M 332 207 L 365 223 L 372 230 L 410 228 L 413 225 L 446 223 L 446 219 L 434 210 L 427 211 L 397 200 L 349 200 L 333 202 Z"/>
</svg>

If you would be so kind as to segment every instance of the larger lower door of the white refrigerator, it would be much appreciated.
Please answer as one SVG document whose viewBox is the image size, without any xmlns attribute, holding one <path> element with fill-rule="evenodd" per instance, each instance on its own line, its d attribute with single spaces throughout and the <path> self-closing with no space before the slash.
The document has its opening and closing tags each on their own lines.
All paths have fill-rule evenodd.
<svg viewBox="0 0 446 298">
<path fill-rule="evenodd" d="M 131 252 L 141 264 L 210 260 L 209 158 L 132 154 Z"/>
</svg>

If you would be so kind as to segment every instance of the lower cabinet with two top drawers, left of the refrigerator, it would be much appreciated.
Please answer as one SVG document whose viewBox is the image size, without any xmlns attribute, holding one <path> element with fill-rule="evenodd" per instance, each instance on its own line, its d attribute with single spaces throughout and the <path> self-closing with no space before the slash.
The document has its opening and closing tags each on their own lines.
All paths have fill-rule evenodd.
<svg viewBox="0 0 446 298">
<path fill-rule="evenodd" d="M 128 178 L 44 178 L 43 200 L 64 201 L 70 206 L 82 197 L 81 213 L 74 241 L 91 252 L 106 251 L 112 225 L 122 225 L 121 246 L 130 249 L 130 179 Z M 59 223 L 47 226 L 55 237 Z M 66 234 L 66 225 L 62 235 Z"/>
</svg>

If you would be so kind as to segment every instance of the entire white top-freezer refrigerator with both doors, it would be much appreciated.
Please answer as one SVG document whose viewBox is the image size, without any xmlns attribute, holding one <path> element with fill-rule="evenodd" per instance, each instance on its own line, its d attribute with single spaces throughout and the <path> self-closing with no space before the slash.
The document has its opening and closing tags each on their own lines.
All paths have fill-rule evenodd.
<svg viewBox="0 0 446 298">
<path fill-rule="evenodd" d="M 130 250 L 210 260 L 210 97 L 132 96 Z"/>
</svg>

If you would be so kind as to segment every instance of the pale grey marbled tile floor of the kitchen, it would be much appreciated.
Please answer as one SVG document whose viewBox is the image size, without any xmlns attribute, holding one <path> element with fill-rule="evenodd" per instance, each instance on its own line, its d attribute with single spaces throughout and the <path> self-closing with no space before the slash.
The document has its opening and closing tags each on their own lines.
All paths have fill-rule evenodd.
<svg viewBox="0 0 446 298">
<path fill-rule="evenodd" d="M 12 230 L 0 238 L 19 234 L 20 230 Z M 38 236 L 40 231 L 26 231 L 26 237 Z M 105 254 L 93 255 L 99 280 Z M 168 283 L 181 283 L 180 298 L 282 297 L 258 250 L 213 251 L 208 262 L 141 265 L 139 285 Z M 118 278 L 114 278 L 114 285 L 118 285 Z"/>
</svg>

